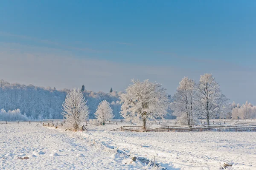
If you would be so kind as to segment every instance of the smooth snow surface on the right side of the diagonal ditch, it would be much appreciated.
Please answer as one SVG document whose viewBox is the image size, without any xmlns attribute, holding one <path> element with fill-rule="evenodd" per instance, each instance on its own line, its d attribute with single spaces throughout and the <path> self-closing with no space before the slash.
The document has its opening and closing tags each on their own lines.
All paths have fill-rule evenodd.
<svg viewBox="0 0 256 170">
<path fill-rule="evenodd" d="M 256 170 L 256 132 L 84 132 L 108 147 L 118 147 L 169 170 Z"/>
</svg>

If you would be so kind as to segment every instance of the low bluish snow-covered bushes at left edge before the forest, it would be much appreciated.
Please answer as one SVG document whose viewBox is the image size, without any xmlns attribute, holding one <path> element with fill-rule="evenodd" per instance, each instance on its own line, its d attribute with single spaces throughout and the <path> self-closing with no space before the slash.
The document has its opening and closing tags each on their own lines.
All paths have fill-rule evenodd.
<svg viewBox="0 0 256 170">
<path fill-rule="evenodd" d="M 0 111 L 0 120 L 29 120 L 26 115 L 20 113 L 20 109 L 6 112 L 4 109 Z"/>
</svg>

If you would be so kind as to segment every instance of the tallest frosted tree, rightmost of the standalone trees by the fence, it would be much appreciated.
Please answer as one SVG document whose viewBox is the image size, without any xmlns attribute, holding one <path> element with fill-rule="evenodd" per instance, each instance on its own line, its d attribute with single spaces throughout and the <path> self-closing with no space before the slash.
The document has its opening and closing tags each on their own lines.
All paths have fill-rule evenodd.
<svg viewBox="0 0 256 170">
<path fill-rule="evenodd" d="M 201 118 L 209 119 L 227 111 L 227 97 L 222 94 L 212 74 L 201 75 L 197 86 L 197 108 Z"/>
</svg>

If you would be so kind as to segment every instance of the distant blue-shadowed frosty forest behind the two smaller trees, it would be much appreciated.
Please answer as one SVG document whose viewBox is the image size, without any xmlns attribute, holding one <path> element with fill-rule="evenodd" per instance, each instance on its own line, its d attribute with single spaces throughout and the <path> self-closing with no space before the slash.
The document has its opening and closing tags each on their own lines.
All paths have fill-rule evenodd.
<svg viewBox="0 0 256 170">
<path fill-rule="evenodd" d="M 38 119 L 39 114 L 44 119 L 62 119 L 62 103 L 70 89 L 57 90 L 55 88 L 37 87 L 34 85 L 21 85 L 0 80 L 0 108 L 6 111 L 20 109 L 20 113 L 26 113 L 29 119 Z M 80 89 L 79 89 L 80 90 Z M 119 101 L 122 92 L 113 91 L 111 94 L 102 91 L 93 92 L 84 90 L 82 92 L 90 109 L 89 118 L 94 119 L 94 113 L 102 100 L 109 103 Z M 93 94 L 93 95 L 91 95 Z M 113 108 L 113 106 L 111 106 Z M 115 119 L 120 119 L 121 105 L 113 108 Z"/>
</svg>

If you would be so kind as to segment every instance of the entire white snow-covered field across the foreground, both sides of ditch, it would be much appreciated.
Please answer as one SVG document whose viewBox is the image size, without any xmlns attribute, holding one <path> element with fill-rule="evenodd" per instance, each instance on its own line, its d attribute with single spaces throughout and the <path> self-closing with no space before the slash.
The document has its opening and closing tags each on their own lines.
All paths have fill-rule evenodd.
<svg viewBox="0 0 256 170">
<path fill-rule="evenodd" d="M 256 132 L 104 130 L 110 127 L 91 126 L 74 135 L 40 124 L 0 125 L 0 169 L 143 169 L 145 163 L 102 150 L 91 143 L 95 140 L 148 159 L 156 156 L 168 170 L 218 170 L 226 161 L 233 164 L 229 170 L 256 170 Z"/>
</svg>

